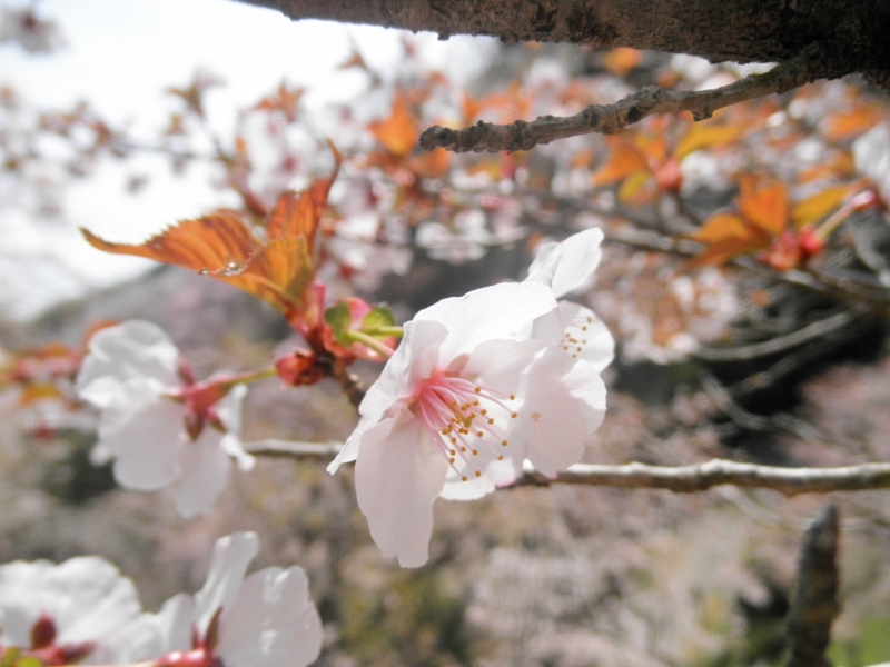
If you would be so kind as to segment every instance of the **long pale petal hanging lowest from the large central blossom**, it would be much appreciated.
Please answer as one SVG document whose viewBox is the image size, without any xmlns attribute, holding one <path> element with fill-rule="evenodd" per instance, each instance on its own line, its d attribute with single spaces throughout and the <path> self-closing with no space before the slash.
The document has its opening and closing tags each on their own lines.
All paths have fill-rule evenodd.
<svg viewBox="0 0 890 667">
<path fill-rule="evenodd" d="M 358 507 L 370 536 L 386 557 L 402 567 L 428 558 L 433 502 L 442 491 L 448 464 L 411 410 L 368 430 L 355 465 Z"/>
</svg>

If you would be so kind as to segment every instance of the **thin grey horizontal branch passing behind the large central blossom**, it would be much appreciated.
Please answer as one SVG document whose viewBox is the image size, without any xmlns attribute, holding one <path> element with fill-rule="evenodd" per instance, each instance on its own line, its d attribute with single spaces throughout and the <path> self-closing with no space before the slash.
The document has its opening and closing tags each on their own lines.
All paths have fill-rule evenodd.
<svg viewBox="0 0 890 667">
<path fill-rule="evenodd" d="M 261 440 L 245 445 L 245 449 L 255 456 L 289 456 L 322 461 L 334 458 L 342 447 L 334 442 L 317 445 L 285 440 Z M 678 494 L 694 494 L 716 486 L 733 485 L 797 496 L 890 488 L 890 464 L 861 464 L 840 468 L 779 468 L 723 459 L 690 466 L 576 464 L 550 479 L 526 462 L 522 476 L 511 486 L 553 484 L 668 489 Z"/>
</svg>

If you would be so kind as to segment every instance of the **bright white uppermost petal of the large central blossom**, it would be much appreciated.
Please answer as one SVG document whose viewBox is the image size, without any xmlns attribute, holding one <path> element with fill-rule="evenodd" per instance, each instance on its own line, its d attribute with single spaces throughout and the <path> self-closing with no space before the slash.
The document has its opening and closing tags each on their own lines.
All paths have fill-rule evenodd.
<svg viewBox="0 0 890 667">
<path fill-rule="evenodd" d="M 481 344 L 517 338 L 535 318 L 556 308 L 553 292 L 538 282 L 502 282 L 474 290 L 463 297 L 443 299 L 425 308 L 415 320 L 445 325 L 439 359 L 468 355 Z"/>
</svg>

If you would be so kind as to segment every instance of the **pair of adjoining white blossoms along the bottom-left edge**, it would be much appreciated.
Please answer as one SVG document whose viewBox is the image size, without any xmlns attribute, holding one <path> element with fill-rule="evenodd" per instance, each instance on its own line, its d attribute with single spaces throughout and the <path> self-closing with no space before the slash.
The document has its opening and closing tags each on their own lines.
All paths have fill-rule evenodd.
<svg viewBox="0 0 890 667">
<path fill-rule="evenodd" d="M 217 540 L 204 587 L 170 598 L 158 614 L 142 611 L 132 581 L 96 556 L 0 566 L 3 664 L 309 665 L 322 648 L 322 621 L 306 574 L 293 566 L 245 576 L 256 554 L 256 534 Z"/>
</svg>

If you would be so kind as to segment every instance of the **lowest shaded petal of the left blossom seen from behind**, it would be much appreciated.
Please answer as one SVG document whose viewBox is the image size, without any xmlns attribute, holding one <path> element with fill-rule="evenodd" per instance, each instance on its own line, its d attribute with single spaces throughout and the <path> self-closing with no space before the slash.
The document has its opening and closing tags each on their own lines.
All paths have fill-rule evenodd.
<svg viewBox="0 0 890 667">
<path fill-rule="evenodd" d="M 179 448 L 179 486 L 176 509 L 190 519 L 209 514 L 214 502 L 229 484 L 231 459 L 222 450 L 222 434 L 205 426 L 198 439 Z"/>
</svg>

